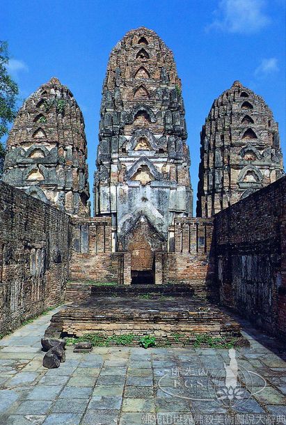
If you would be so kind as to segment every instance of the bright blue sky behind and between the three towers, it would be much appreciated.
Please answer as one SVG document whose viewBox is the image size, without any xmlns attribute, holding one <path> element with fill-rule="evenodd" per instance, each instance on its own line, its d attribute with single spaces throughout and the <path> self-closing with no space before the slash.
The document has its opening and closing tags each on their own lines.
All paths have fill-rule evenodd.
<svg viewBox="0 0 286 425">
<path fill-rule="evenodd" d="M 22 100 L 51 77 L 83 111 L 93 187 L 102 82 L 109 53 L 147 26 L 173 50 L 182 79 L 196 199 L 200 129 L 212 102 L 236 79 L 273 110 L 285 144 L 284 0 L 1 0 L 1 39 Z"/>
</svg>

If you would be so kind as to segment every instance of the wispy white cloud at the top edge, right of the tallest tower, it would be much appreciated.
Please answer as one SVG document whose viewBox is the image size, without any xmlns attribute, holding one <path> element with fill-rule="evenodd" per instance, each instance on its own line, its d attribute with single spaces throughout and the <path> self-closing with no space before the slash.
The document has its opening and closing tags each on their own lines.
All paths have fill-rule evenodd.
<svg viewBox="0 0 286 425">
<path fill-rule="evenodd" d="M 229 33 L 251 34 L 269 24 L 264 13 L 265 0 L 221 0 L 214 11 L 214 21 L 207 29 Z"/>
</svg>

